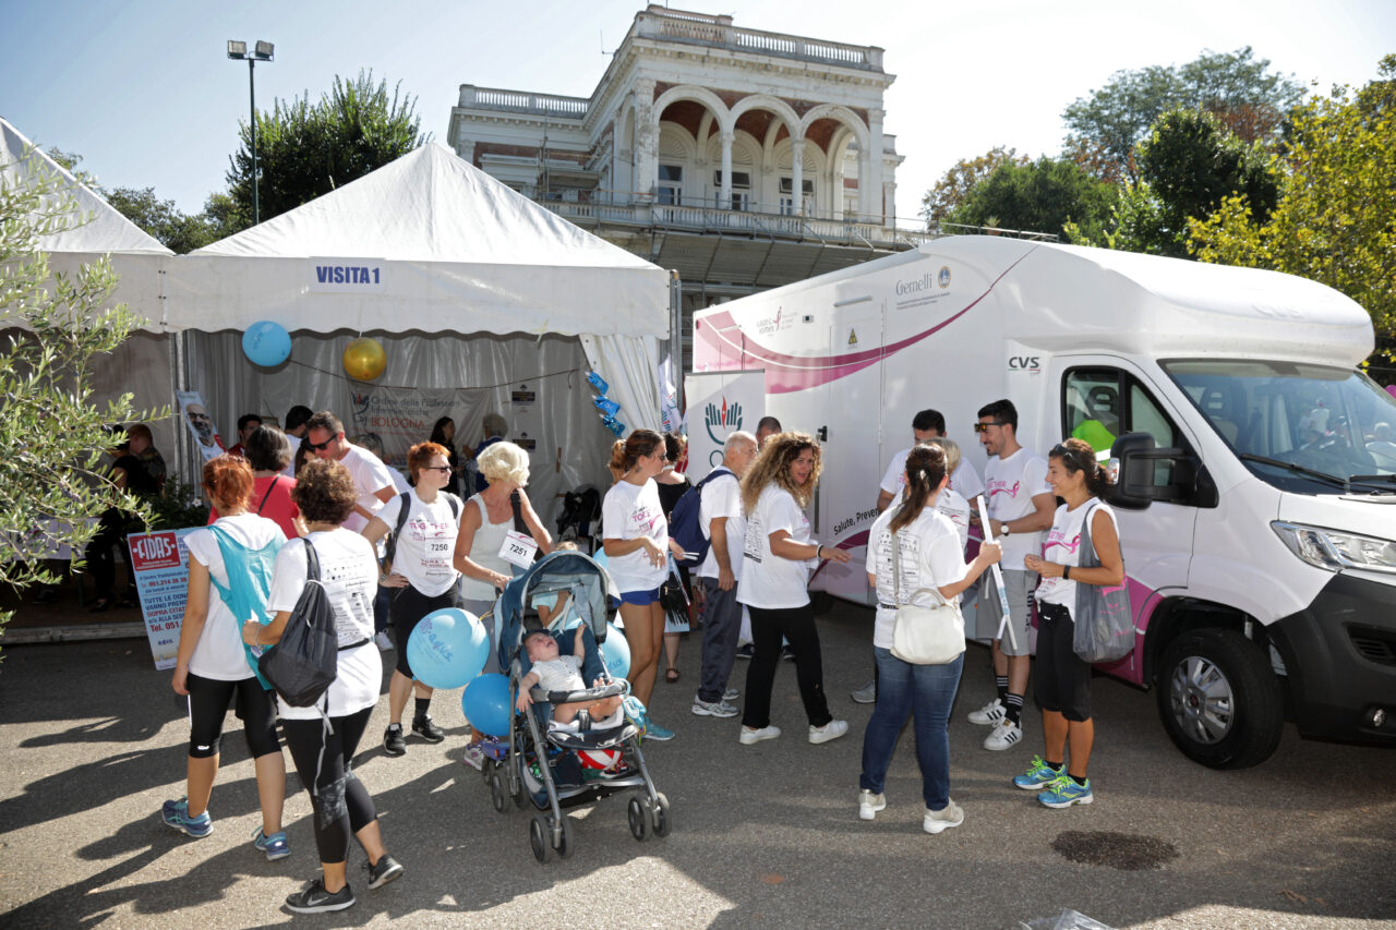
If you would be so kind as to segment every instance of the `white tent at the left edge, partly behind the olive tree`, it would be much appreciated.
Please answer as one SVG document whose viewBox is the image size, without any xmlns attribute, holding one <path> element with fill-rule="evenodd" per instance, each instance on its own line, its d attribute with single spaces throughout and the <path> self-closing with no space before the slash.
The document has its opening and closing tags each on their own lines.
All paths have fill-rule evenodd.
<svg viewBox="0 0 1396 930">
<path fill-rule="evenodd" d="M 159 317 L 162 272 L 173 253 L 0 119 L 0 184 L 28 186 L 49 179 L 60 190 L 46 198 L 47 205 L 54 204 L 57 197 L 71 200 L 59 232 L 39 240 L 49 254 L 49 268 L 71 275 L 82 265 L 109 256 L 113 270 L 120 275 L 109 304 L 126 303 L 152 320 L 145 332 L 134 334 L 106 363 L 92 371 L 95 399 L 102 402 L 130 391 L 135 395 L 137 409 L 169 404 L 173 377 L 170 339 L 159 335 Z M 15 323 L 0 321 L 0 325 Z M 176 434 L 169 420 L 152 423 L 151 429 L 158 448 L 174 448 Z"/>
</svg>

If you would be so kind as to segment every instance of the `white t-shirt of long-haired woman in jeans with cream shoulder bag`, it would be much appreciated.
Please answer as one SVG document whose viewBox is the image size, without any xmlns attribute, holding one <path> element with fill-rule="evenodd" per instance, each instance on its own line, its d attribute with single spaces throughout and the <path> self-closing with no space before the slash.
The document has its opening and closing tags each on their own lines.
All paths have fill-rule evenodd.
<svg viewBox="0 0 1396 930">
<path fill-rule="evenodd" d="M 868 554 L 864 568 L 877 578 L 877 621 L 872 627 L 872 645 L 892 648 L 892 628 L 896 626 L 896 607 L 914 603 L 934 607 L 941 602 L 938 595 L 916 592 L 921 588 L 944 588 L 965 577 L 965 547 L 959 533 L 945 514 L 933 507 L 924 508 L 916 519 L 898 532 L 898 546 L 902 556 L 902 577 L 892 574 L 892 517 L 893 510 L 885 510 L 868 531 Z M 900 596 L 898 596 L 900 595 Z M 888 605 L 891 609 L 884 607 Z"/>
</svg>

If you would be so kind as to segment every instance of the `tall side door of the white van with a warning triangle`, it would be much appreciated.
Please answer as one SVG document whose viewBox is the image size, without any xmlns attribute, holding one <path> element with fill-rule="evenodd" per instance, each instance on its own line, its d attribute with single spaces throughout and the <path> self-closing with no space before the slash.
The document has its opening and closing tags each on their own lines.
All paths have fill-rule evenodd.
<svg viewBox="0 0 1396 930">
<path fill-rule="evenodd" d="M 811 586 L 854 603 L 871 603 L 864 557 L 881 479 L 881 473 L 871 472 L 882 461 L 882 307 L 866 303 L 836 309 L 828 349 L 829 364 L 849 370 L 832 371 L 835 377 L 818 388 L 824 478 L 815 492 L 811 529 L 819 542 L 839 546 L 853 560 L 846 566 L 825 563 Z"/>
</svg>

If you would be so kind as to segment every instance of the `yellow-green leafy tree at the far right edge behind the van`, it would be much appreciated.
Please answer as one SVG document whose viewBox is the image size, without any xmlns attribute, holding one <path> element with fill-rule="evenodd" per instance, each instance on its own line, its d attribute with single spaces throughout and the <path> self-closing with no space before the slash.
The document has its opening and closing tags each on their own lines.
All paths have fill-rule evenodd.
<svg viewBox="0 0 1396 930">
<path fill-rule="evenodd" d="M 1273 268 L 1342 290 L 1372 314 L 1388 349 L 1396 337 L 1396 54 L 1353 94 L 1335 88 L 1293 115 L 1275 158 L 1280 198 L 1266 219 L 1244 197 L 1189 223 L 1202 261 Z"/>
</svg>

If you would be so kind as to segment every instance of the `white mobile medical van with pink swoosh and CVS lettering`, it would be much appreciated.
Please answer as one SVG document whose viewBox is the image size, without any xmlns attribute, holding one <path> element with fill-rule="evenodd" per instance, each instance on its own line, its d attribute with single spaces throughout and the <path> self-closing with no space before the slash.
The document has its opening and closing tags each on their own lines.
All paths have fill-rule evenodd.
<svg viewBox="0 0 1396 930">
<path fill-rule="evenodd" d="M 1323 285 L 1122 251 L 969 236 L 694 317 L 694 371 L 765 370 L 766 412 L 814 433 L 814 581 L 867 602 L 878 482 L 912 418 L 945 415 L 983 473 L 977 411 L 1018 438 L 1113 445 L 1138 630 L 1106 670 L 1157 690 L 1174 743 L 1263 761 L 1286 716 L 1396 744 L 1396 399 L 1356 370 L 1368 314 Z"/>
</svg>

